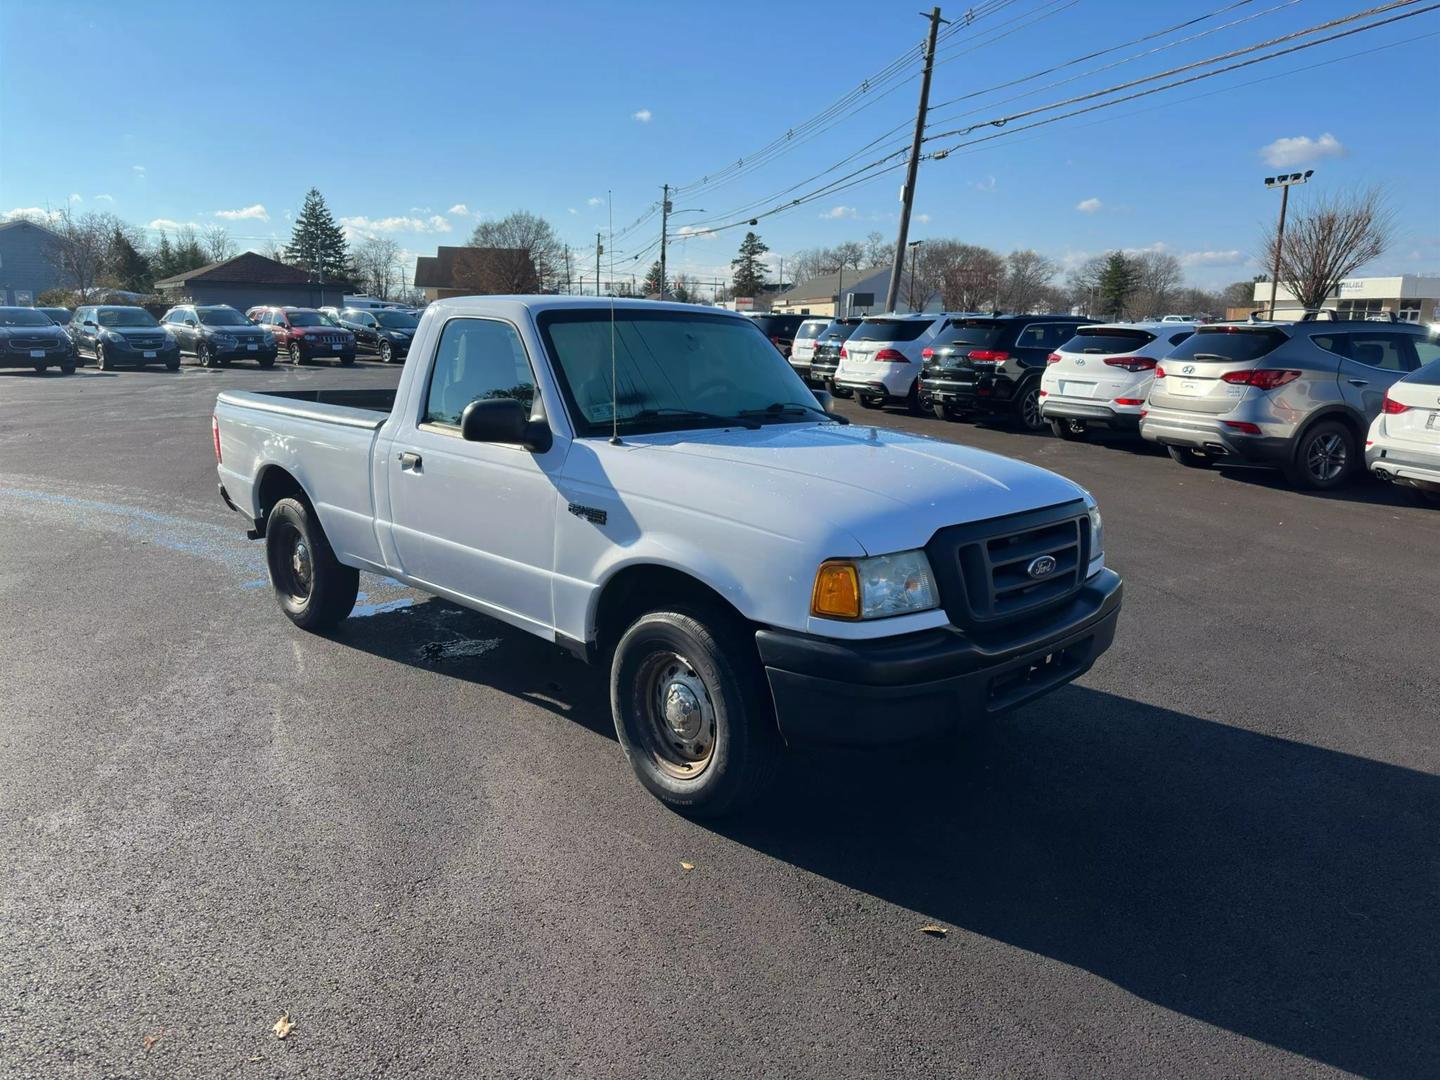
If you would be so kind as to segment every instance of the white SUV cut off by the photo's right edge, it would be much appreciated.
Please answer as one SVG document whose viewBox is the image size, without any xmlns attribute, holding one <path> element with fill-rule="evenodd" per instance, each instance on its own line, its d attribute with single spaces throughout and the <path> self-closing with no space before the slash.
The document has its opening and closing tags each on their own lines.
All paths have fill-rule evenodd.
<svg viewBox="0 0 1440 1080">
<path fill-rule="evenodd" d="M 1365 439 L 1365 464 L 1440 507 L 1440 337 L 1414 344 L 1426 364 L 1385 392 Z"/>
</svg>

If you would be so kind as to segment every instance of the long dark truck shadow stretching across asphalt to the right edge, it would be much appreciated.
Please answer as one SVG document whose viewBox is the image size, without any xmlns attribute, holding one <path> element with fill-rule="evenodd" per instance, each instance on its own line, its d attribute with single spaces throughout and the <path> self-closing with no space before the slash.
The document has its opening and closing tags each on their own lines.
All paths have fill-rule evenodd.
<svg viewBox="0 0 1440 1080">
<path fill-rule="evenodd" d="M 1365 1076 L 1440 1061 L 1440 778 L 1070 687 L 717 831 Z"/>
</svg>

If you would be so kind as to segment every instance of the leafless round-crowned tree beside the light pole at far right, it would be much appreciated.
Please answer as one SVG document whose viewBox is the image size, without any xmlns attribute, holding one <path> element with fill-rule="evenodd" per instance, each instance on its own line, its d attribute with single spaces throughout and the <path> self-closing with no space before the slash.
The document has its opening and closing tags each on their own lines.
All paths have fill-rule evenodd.
<svg viewBox="0 0 1440 1080">
<path fill-rule="evenodd" d="M 1313 207 L 1292 210 L 1280 252 L 1279 282 L 1300 307 L 1318 308 L 1341 279 L 1390 246 L 1394 212 L 1380 189 L 1338 194 Z M 1274 266 L 1276 230 L 1264 243 L 1264 265 Z"/>
</svg>

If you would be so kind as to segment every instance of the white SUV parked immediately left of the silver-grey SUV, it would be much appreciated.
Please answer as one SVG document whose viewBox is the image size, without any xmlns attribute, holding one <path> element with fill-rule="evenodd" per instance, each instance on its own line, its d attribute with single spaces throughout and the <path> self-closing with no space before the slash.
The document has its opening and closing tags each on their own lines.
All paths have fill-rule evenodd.
<svg viewBox="0 0 1440 1080">
<path fill-rule="evenodd" d="M 1061 439 L 1083 439 L 1092 423 L 1140 428 L 1155 364 L 1195 333 L 1195 323 L 1102 323 L 1050 354 L 1040 380 L 1040 415 Z"/>
</svg>

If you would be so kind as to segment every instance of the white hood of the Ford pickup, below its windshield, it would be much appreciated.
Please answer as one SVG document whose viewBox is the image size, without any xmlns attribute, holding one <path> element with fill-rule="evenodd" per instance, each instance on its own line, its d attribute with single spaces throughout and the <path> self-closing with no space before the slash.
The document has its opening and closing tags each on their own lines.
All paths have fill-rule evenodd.
<svg viewBox="0 0 1440 1080">
<path fill-rule="evenodd" d="M 711 513 L 760 528 L 789 536 L 847 533 L 868 554 L 922 547 L 945 526 L 1086 494 L 1064 477 L 1014 458 L 858 425 L 628 436 L 605 451 L 619 451 L 613 459 L 602 456 L 622 495 L 688 491 Z"/>
</svg>

